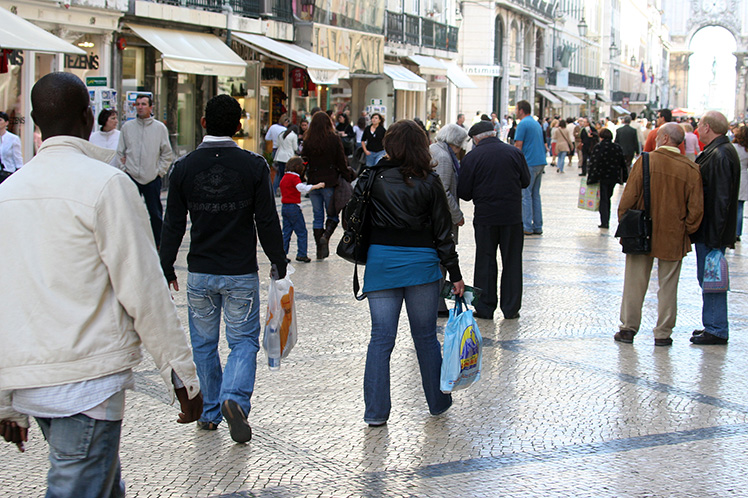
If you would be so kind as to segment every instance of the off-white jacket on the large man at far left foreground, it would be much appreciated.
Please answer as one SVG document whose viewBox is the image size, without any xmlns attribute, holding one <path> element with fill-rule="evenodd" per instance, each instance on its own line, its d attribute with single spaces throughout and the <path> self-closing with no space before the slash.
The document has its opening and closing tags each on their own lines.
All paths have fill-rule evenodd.
<svg viewBox="0 0 748 498">
<path fill-rule="evenodd" d="M 172 387 L 199 392 L 187 337 L 135 184 L 79 138 L 44 141 L 0 185 L 0 419 L 10 391 L 97 379 L 137 365 L 140 344 Z"/>
</svg>

